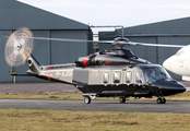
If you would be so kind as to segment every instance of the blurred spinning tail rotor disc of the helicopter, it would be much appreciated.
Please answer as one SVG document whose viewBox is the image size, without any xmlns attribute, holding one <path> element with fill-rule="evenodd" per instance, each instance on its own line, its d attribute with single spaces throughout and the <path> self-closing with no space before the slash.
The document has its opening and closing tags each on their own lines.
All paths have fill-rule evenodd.
<svg viewBox="0 0 190 131">
<path fill-rule="evenodd" d="M 34 39 L 27 37 L 33 37 L 33 33 L 27 27 L 14 31 L 9 37 L 4 48 L 4 58 L 9 66 L 22 66 L 31 56 Z"/>
</svg>

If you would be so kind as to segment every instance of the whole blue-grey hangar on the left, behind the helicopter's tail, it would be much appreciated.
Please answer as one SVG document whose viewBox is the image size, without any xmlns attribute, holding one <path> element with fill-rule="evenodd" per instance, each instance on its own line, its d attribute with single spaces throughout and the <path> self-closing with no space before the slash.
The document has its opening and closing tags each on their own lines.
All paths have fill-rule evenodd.
<svg viewBox="0 0 190 131">
<path fill-rule="evenodd" d="M 88 25 L 40 10 L 16 0 L 0 0 L 0 83 L 12 82 L 9 71 L 25 73 L 27 66 L 11 68 L 4 60 L 8 37 L 19 27 L 32 29 L 35 37 L 92 39 Z M 71 63 L 79 56 L 93 52 L 87 43 L 34 40 L 33 55 L 41 64 Z M 15 82 L 44 82 L 35 78 L 16 78 Z"/>
</svg>

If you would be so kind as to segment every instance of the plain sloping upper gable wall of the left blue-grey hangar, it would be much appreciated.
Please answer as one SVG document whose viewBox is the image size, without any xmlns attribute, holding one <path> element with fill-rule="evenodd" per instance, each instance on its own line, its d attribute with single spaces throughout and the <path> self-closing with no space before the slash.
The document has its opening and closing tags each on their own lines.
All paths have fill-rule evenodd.
<svg viewBox="0 0 190 131">
<path fill-rule="evenodd" d="M 0 0 L 0 29 L 87 29 L 88 25 L 16 0 Z"/>
</svg>

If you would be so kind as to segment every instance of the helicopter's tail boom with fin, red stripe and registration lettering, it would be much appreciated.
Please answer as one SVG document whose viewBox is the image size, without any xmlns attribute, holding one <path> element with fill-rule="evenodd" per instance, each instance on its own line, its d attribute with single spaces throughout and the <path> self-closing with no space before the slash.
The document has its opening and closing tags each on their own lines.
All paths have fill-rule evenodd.
<svg viewBox="0 0 190 131">
<path fill-rule="evenodd" d="M 73 68 L 75 67 L 75 63 L 43 66 L 33 55 L 31 55 L 27 59 L 27 64 L 29 67 L 27 74 L 47 81 L 58 81 L 72 84 Z"/>
</svg>

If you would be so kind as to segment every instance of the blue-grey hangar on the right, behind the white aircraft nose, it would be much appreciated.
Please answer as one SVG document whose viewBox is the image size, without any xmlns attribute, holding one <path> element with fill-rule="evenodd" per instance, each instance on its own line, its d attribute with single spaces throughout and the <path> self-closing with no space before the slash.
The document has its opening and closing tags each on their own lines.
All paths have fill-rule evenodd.
<svg viewBox="0 0 190 131">
<path fill-rule="evenodd" d="M 112 40 L 121 36 L 121 29 L 115 32 L 99 32 L 99 40 Z M 190 17 L 164 21 L 158 23 L 124 27 L 124 37 L 130 41 L 189 45 L 190 44 Z M 99 45 L 99 50 L 111 48 L 111 46 Z M 129 46 L 135 56 L 147 59 L 152 63 L 163 64 L 164 60 L 175 55 L 180 48 Z M 176 79 L 181 76 L 169 72 Z"/>
</svg>

